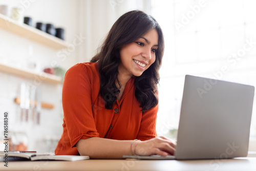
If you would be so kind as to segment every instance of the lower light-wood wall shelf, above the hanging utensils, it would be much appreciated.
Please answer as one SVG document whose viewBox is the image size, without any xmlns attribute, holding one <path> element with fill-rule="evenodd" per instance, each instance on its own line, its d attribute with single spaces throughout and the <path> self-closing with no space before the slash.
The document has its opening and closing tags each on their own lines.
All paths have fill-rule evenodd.
<svg viewBox="0 0 256 171">
<path fill-rule="evenodd" d="M 24 77 L 24 78 L 33 79 L 36 81 L 36 83 L 40 83 L 40 81 L 53 83 L 53 84 L 61 83 L 61 78 L 56 75 L 47 74 L 45 72 L 35 73 L 35 71 L 33 71 L 31 69 L 16 68 L 11 65 L 4 64 L 4 63 L 0 63 L 0 72 L 17 75 L 17 76 Z"/>
</svg>

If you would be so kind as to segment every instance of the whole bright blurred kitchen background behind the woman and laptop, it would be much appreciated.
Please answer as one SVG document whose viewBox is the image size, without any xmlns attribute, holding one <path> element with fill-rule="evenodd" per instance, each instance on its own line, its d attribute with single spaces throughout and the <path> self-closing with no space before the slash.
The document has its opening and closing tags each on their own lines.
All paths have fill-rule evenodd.
<svg viewBox="0 0 256 171">
<path fill-rule="evenodd" d="M 89 61 L 115 20 L 133 9 L 152 14 L 165 35 L 158 135 L 176 138 L 185 74 L 256 86 L 254 1 L 0 0 L 0 5 L 8 7 L 0 15 L 0 125 L 7 111 L 13 149 L 54 153 L 62 133 L 63 74 Z M 20 11 L 12 15 L 16 7 Z M 32 26 L 9 19 L 18 16 L 31 17 Z M 63 28 L 64 40 L 31 28 L 39 22 Z M 248 41 L 251 48 L 243 51 L 244 45 L 250 47 Z M 223 71 L 225 66 L 228 71 Z M 46 75 L 47 68 L 48 73 L 55 68 L 55 76 Z M 33 106 L 34 100 L 45 105 Z M 254 111 L 250 150 L 256 151 Z"/>
</svg>

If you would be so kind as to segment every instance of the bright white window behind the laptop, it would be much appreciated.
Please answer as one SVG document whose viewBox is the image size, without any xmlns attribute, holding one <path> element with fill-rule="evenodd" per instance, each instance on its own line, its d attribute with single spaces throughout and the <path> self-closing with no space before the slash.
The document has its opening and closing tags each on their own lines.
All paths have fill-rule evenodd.
<svg viewBox="0 0 256 171">
<path fill-rule="evenodd" d="M 152 0 L 152 15 L 165 38 L 159 86 L 159 136 L 176 138 L 185 74 L 256 86 L 255 6 L 253 0 Z M 221 71 L 223 66 L 227 66 L 227 73 Z M 249 144 L 253 151 L 255 106 L 254 102 Z"/>
</svg>

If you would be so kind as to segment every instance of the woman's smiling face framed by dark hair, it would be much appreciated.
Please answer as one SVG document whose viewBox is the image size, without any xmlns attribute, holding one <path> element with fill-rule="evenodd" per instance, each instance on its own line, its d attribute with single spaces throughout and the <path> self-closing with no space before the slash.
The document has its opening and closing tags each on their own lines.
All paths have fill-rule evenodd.
<svg viewBox="0 0 256 171">
<path fill-rule="evenodd" d="M 158 33 L 156 29 L 148 31 L 131 44 L 120 49 L 119 74 L 140 76 L 156 60 Z"/>
</svg>

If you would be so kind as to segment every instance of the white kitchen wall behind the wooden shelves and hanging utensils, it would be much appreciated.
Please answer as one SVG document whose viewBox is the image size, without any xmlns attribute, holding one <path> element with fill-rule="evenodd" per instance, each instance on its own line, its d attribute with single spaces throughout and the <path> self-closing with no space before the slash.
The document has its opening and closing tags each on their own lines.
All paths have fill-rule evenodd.
<svg viewBox="0 0 256 171">
<path fill-rule="evenodd" d="M 77 36 L 80 36 L 78 29 L 78 1 L 69 0 L 38 0 L 38 1 L 0 1 L 0 5 L 8 5 L 9 8 L 23 6 L 26 10 L 24 16 L 30 16 L 35 26 L 36 22 L 51 23 L 55 27 L 65 29 L 65 40 L 71 45 Z M 9 13 L 10 14 L 10 13 Z M 7 62 L 17 67 L 26 67 L 29 49 L 33 49 L 32 58 L 40 63 L 41 70 L 50 67 L 51 62 L 56 60 L 58 65 L 67 70 L 77 63 L 77 48 L 56 50 L 38 42 L 18 36 L 9 31 L 0 29 L 0 61 Z M 65 54 L 65 59 L 60 55 Z M 20 109 L 14 103 L 14 98 L 19 96 L 20 84 L 29 82 L 32 79 L 20 78 L 15 75 L 0 72 L 0 125 L 3 125 L 4 112 L 9 112 L 9 131 L 25 132 L 29 140 L 29 150 L 37 152 L 54 152 L 56 140 L 62 133 L 62 105 L 61 105 L 61 84 L 40 83 L 36 85 L 42 90 L 42 101 L 54 104 L 55 108 L 42 109 L 40 124 L 32 121 L 20 122 Z M 2 126 L 0 137 L 2 139 Z M 51 140 L 55 140 L 51 143 Z"/>
</svg>

